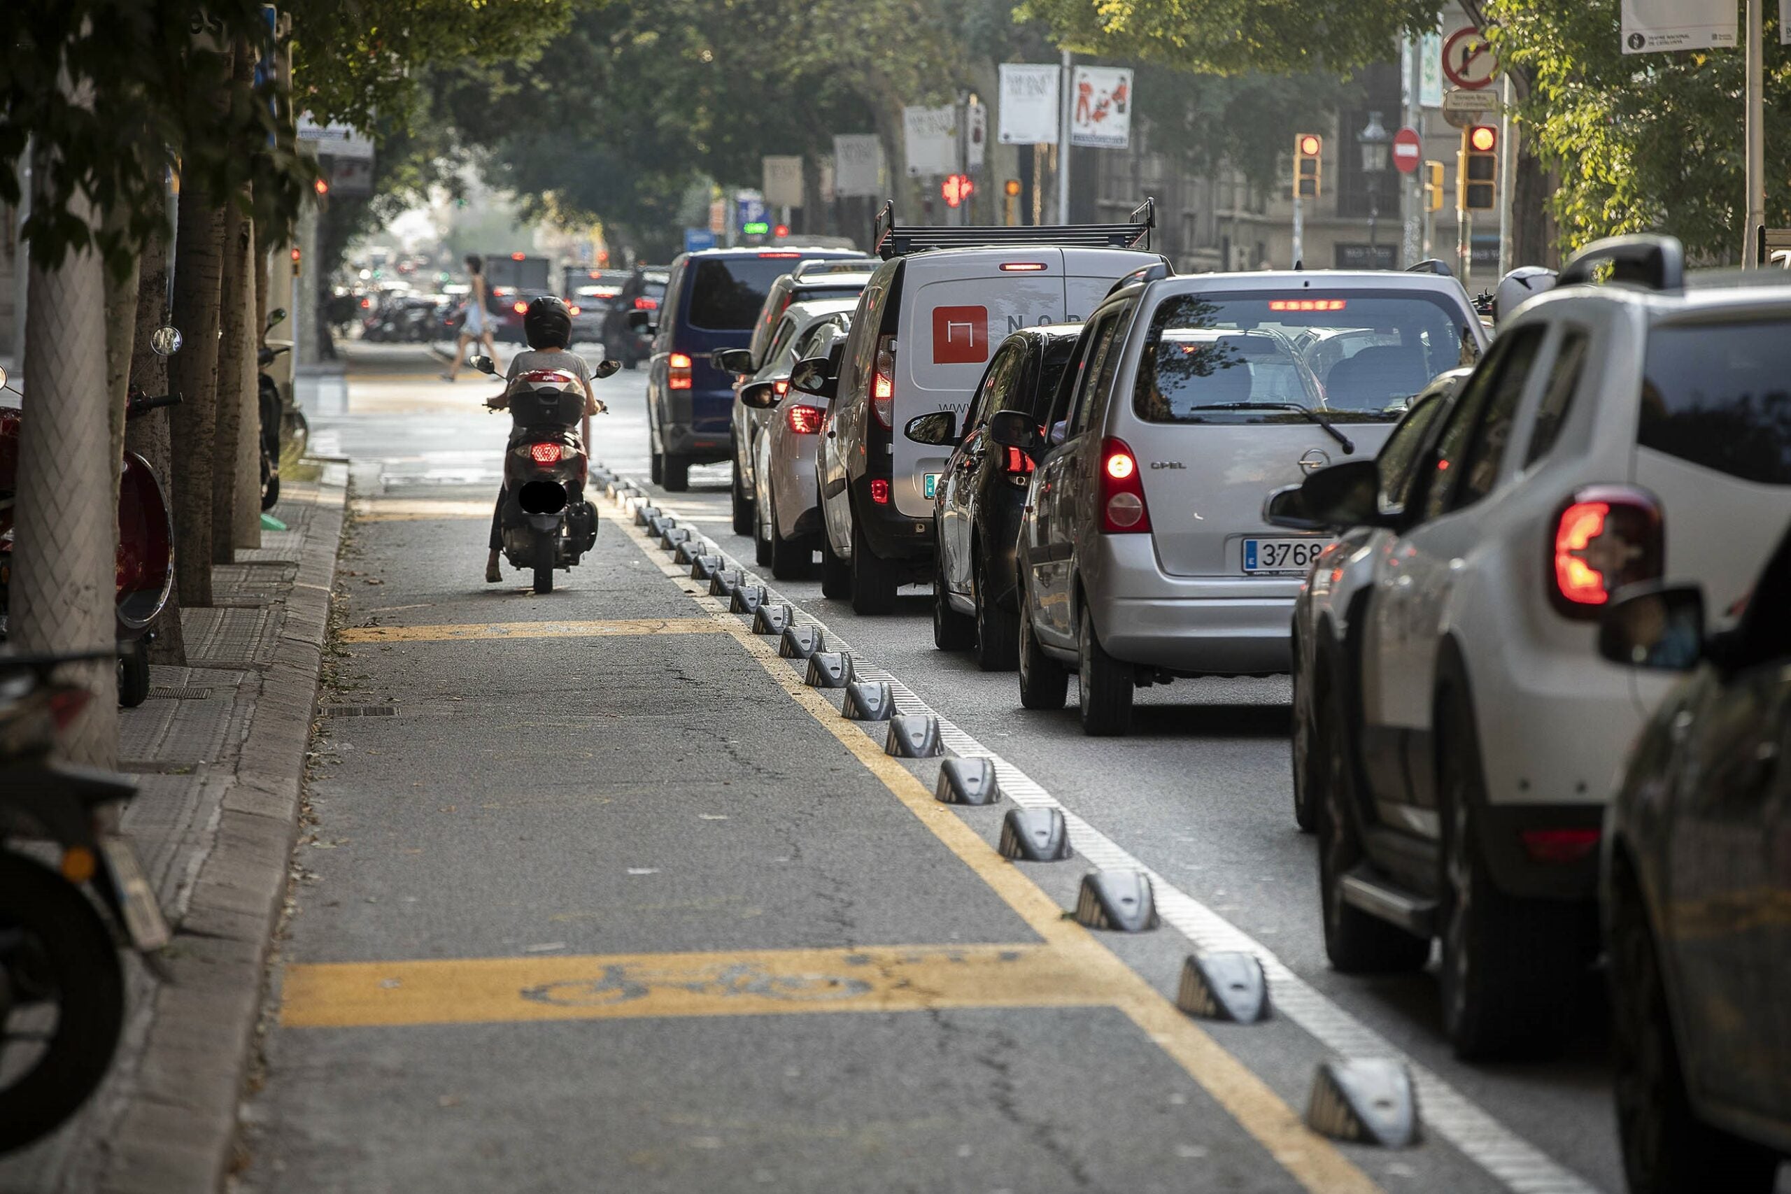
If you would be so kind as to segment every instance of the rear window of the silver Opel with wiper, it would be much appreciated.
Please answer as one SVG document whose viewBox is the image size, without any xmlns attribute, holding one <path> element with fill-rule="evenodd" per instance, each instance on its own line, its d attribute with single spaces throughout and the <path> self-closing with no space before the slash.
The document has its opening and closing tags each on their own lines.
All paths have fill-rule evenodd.
<svg viewBox="0 0 1791 1194">
<path fill-rule="evenodd" d="M 1392 422 L 1470 363 L 1469 311 L 1426 292 L 1189 294 L 1150 320 L 1132 405 L 1150 422 Z"/>
</svg>

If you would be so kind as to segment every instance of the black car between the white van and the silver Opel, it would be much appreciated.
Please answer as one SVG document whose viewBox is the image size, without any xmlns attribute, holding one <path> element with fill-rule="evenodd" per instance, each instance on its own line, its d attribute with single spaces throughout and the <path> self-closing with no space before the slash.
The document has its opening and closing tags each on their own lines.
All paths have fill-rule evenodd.
<svg viewBox="0 0 1791 1194">
<path fill-rule="evenodd" d="M 974 646 L 983 671 L 1007 671 L 1019 659 L 1014 548 L 1033 469 L 1028 453 L 989 439 L 989 419 L 1012 410 L 1042 424 L 1080 333 L 1082 324 L 1012 333 L 989 360 L 962 428 L 951 412 L 919 415 L 906 428 L 921 444 L 958 440 L 931 494 L 933 644 Z"/>
</svg>

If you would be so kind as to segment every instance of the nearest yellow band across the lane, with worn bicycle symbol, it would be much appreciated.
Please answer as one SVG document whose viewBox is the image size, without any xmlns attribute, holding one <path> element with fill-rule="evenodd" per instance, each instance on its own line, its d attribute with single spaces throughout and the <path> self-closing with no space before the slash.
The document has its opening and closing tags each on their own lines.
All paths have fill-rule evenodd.
<svg viewBox="0 0 1791 1194">
<path fill-rule="evenodd" d="M 1039 945 L 879 945 L 287 967 L 287 1028 L 1107 1006 L 1107 976 Z"/>
</svg>

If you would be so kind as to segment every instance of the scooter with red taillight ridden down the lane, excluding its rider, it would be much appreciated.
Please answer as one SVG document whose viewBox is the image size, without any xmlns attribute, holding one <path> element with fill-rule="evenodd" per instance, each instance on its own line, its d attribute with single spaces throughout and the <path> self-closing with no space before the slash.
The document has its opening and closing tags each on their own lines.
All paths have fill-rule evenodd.
<svg viewBox="0 0 1791 1194">
<path fill-rule="evenodd" d="M 496 376 L 489 356 L 473 369 Z M 605 360 L 607 378 L 621 362 Z M 534 569 L 536 593 L 553 591 L 553 569 L 570 569 L 596 544 L 596 507 L 584 499 L 587 458 L 578 424 L 584 387 L 557 369 L 519 376 L 509 388 L 510 439 L 503 451 L 503 510 L 498 526 L 510 567 Z"/>
</svg>

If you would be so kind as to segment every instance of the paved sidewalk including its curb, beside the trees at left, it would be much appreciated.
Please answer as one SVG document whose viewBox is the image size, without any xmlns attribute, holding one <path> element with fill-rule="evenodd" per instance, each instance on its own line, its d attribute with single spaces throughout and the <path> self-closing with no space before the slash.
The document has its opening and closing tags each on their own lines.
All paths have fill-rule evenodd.
<svg viewBox="0 0 1791 1194">
<path fill-rule="evenodd" d="M 120 711 L 124 829 L 174 925 L 165 979 L 129 959 L 125 1036 L 81 1115 L 0 1158 L 0 1194 L 202 1194 L 235 1162 L 342 541 L 346 467 L 287 482 L 263 532 L 183 612 L 186 668 Z"/>
</svg>

